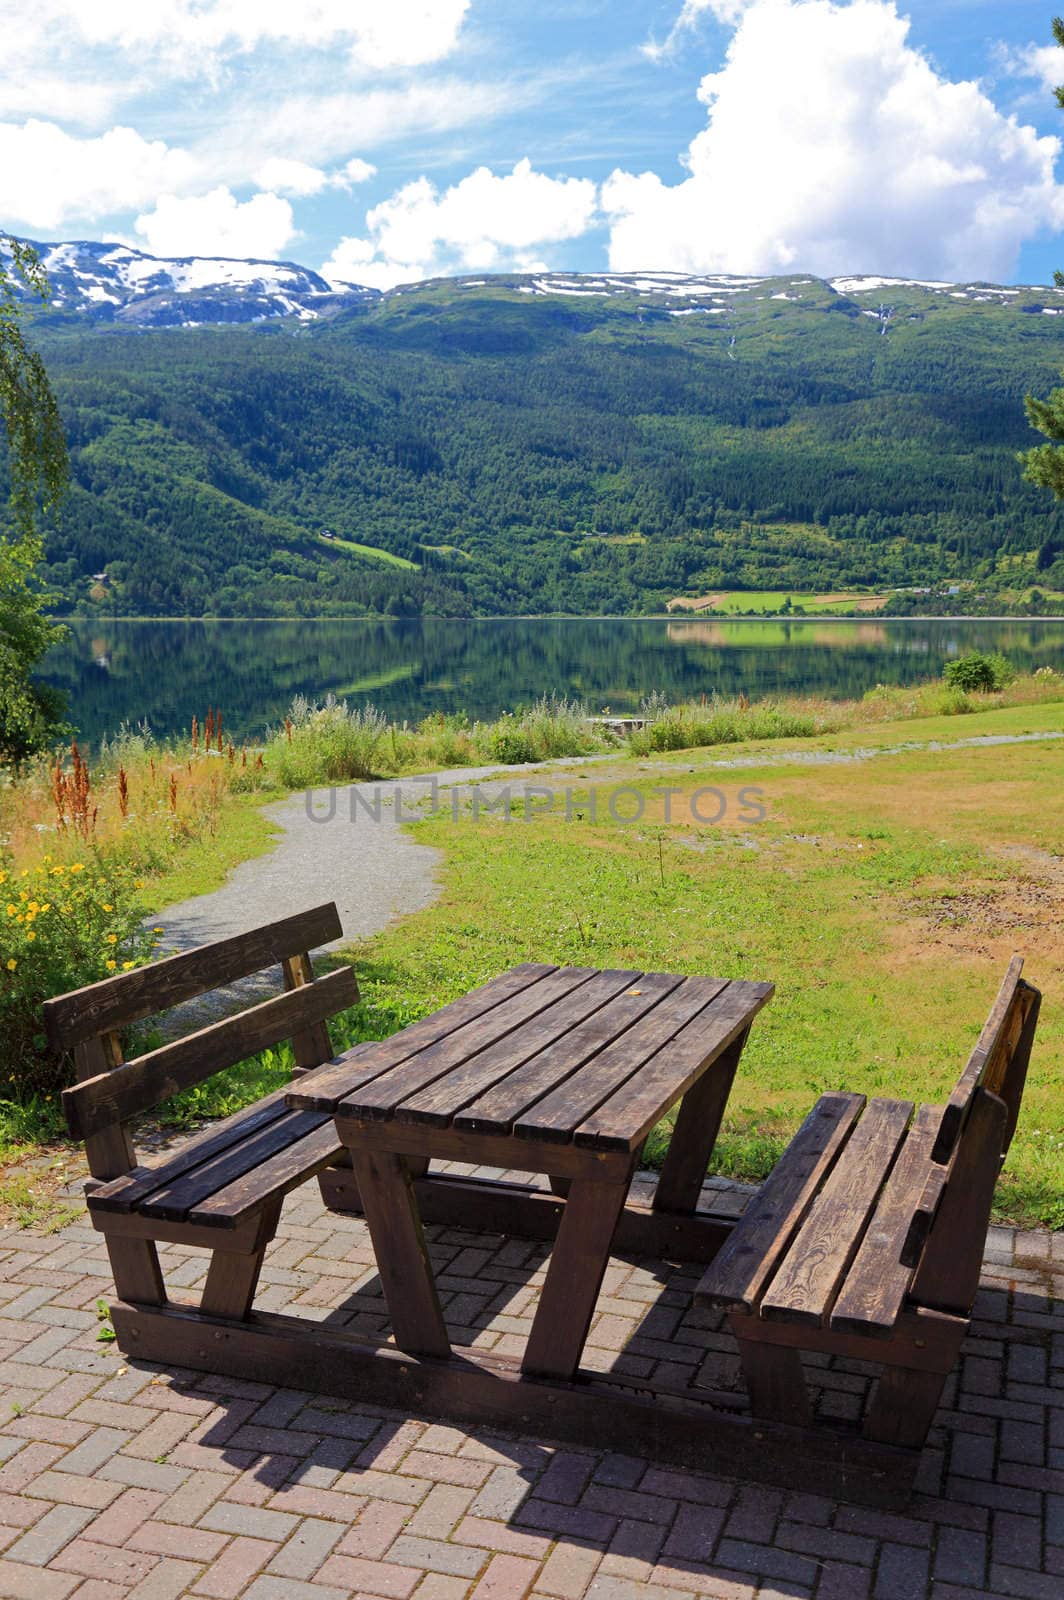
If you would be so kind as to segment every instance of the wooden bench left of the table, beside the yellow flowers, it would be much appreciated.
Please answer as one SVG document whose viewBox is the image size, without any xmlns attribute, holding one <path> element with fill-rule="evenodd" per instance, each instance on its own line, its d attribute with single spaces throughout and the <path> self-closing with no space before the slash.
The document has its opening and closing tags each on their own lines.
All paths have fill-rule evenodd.
<svg viewBox="0 0 1064 1600">
<path fill-rule="evenodd" d="M 245 1318 L 283 1197 L 342 1160 L 333 1118 L 291 1110 L 283 1090 L 158 1166 L 138 1165 L 130 1134 L 138 1114 L 282 1040 L 291 1042 L 296 1075 L 333 1059 L 328 1018 L 357 1003 L 358 982 L 350 968 L 315 979 L 309 952 L 341 934 L 336 907 L 318 906 L 45 1005 L 51 1046 L 74 1053 L 78 1082 L 62 1104 L 70 1133 L 85 1141 L 88 1211 L 106 1237 L 120 1301 L 165 1304 L 155 1243 L 173 1240 L 213 1253 L 200 1309 Z M 277 963 L 283 994 L 123 1061 L 123 1029 Z"/>
</svg>

